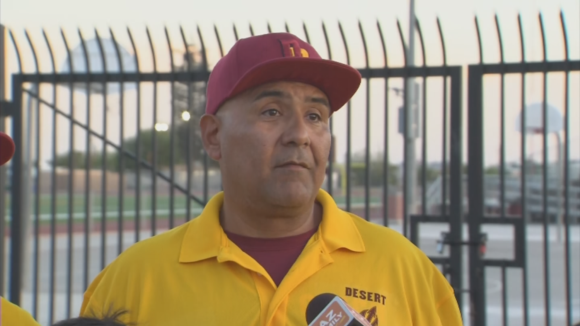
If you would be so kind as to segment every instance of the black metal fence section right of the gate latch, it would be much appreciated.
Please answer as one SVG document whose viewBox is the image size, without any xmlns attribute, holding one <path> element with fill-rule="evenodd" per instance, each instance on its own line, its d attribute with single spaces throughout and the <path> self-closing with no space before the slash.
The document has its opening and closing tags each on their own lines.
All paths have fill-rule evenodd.
<svg viewBox="0 0 580 326">
<path fill-rule="evenodd" d="M 560 318 L 561 321 L 565 321 L 565 325 L 572 325 L 574 322 L 578 322 L 580 319 L 580 306 L 578 305 L 578 298 L 579 295 L 575 294 L 578 291 L 578 266 L 580 262 L 580 251 L 578 251 L 579 245 L 577 243 L 574 244 L 572 247 L 572 236 L 573 230 L 571 229 L 571 223 L 574 221 L 578 223 L 577 214 L 572 214 L 572 209 L 577 211 L 580 207 L 578 206 L 578 199 L 580 198 L 578 191 L 575 191 L 575 198 L 571 196 L 571 184 L 574 183 L 576 187 L 580 184 L 578 181 L 578 176 L 571 175 L 570 169 L 570 151 L 571 151 L 571 137 L 570 137 L 570 126 L 571 125 L 580 125 L 580 119 L 577 119 L 576 122 L 571 118 L 571 113 L 573 110 L 578 111 L 580 110 L 580 104 L 577 102 L 575 105 L 571 105 L 570 103 L 570 91 L 571 84 L 571 71 L 580 71 L 580 61 L 578 60 L 570 60 L 569 57 L 569 47 L 568 47 L 568 37 L 566 35 L 566 28 L 564 23 L 564 16 L 560 15 L 560 22 L 561 22 L 561 32 L 563 35 L 563 45 L 564 45 L 564 60 L 562 61 L 548 61 L 547 59 L 547 52 L 548 52 L 548 45 L 546 40 L 545 34 L 545 26 L 543 24 L 542 16 L 538 17 L 539 19 L 539 26 L 541 30 L 541 44 L 542 44 L 542 57 L 543 60 L 540 62 L 526 62 L 526 53 L 525 53 L 525 46 L 524 46 L 524 36 L 523 36 L 523 28 L 521 19 L 518 21 L 519 31 L 520 31 L 520 45 L 521 45 L 521 60 L 519 63 L 506 63 L 504 61 L 505 53 L 503 50 L 503 42 L 501 37 L 501 30 L 499 28 L 498 20 L 496 19 L 496 27 L 497 27 L 497 34 L 498 34 L 498 41 L 499 41 L 499 55 L 500 55 L 500 62 L 496 64 L 484 64 L 483 63 L 483 55 L 481 55 L 481 38 L 479 38 L 480 30 L 477 28 L 478 38 L 479 38 L 479 46 L 480 46 L 480 63 L 473 64 L 469 66 L 469 89 L 468 89 L 468 97 L 469 97 L 469 121 L 468 128 L 469 128 L 469 140 L 468 140 L 468 148 L 469 148 L 469 239 L 480 239 L 485 238 L 485 234 L 481 234 L 481 226 L 482 224 L 501 224 L 502 226 L 512 226 L 513 227 L 513 255 L 512 258 L 484 258 L 480 254 L 480 248 L 472 246 L 469 249 L 469 270 L 470 270 L 470 282 L 469 282 L 469 289 L 470 289 L 470 300 L 472 302 L 472 307 L 474 309 L 473 314 L 473 321 L 476 325 L 485 325 L 486 324 L 486 314 L 485 306 L 486 306 L 486 295 L 485 295 L 485 283 L 486 283 L 486 267 L 495 267 L 499 269 L 499 273 L 501 274 L 502 280 L 502 311 L 504 311 L 502 315 L 503 324 L 507 324 L 509 322 L 509 316 L 506 311 L 509 309 L 509 299 L 508 299 L 508 291 L 510 288 L 507 286 L 507 269 L 519 269 L 521 271 L 521 277 L 517 277 L 521 280 L 521 291 L 523 292 L 521 296 L 521 307 L 523 310 L 522 318 L 523 324 L 528 325 L 534 323 L 532 320 L 533 317 L 530 316 L 530 301 L 533 300 L 532 296 L 530 295 L 531 288 L 538 288 L 539 284 L 543 285 L 543 308 L 544 314 L 543 318 L 538 318 L 539 321 L 535 321 L 535 323 L 542 323 L 544 325 L 552 325 L 554 323 L 554 309 L 552 302 L 554 300 L 553 291 L 550 291 L 550 287 L 554 286 L 553 284 L 563 283 L 563 287 L 561 291 L 563 292 L 558 295 L 564 302 L 564 318 Z M 477 23 L 477 20 L 476 20 Z M 541 89 L 541 124 L 539 125 L 531 125 L 527 119 L 527 114 L 534 114 L 530 112 L 530 110 L 526 110 L 525 107 L 525 83 L 527 81 L 527 75 L 533 73 L 541 73 L 542 77 L 542 89 Z M 561 77 L 564 79 L 563 88 L 560 89 L 560 95 L 563 96 L 564 102 L 564 115 L 563 118 L 560 117 L 560 123 L 563 124 L 563 134 L 564 134 L 564 144 L 563 144 L 563 178 L 561 181 L 561 185 L 557 184 L 560 180 L 556 180 L 554 182 L 554 175 L 550 175 L 549 169 L 549 158 L 548 158 L 548 136 L 549 133 L 553 132 L 560 132 L 559 130 L 549 130 L 550 123 L 553 123 L 553 117 L 549 117 L 550 111 L 548 110 L 548 74 L 550 73 L 562 73 Z M 500 148 L 500 165 L 499 165 L 499 198 L 500 198 L 500 207 L 499 211 L 496 214 L 490 214 L 485 209 L 485 190 L 484 190 L 484 178 L 485 175 L 482 173 L 484 171 L 484 138 L 485 133 L 483 131 L 483 114 L 484 114 L 484 97 L 482 95 L 484 91 L 484 76 L 496 74 L 500 76 L 500 87 L 501 87 L 501 99 L 500 99 L 500 115 L 501 120 L 499 121 L 499 130 L 501 133 L 501 148 Z M 516 77 L 520 79 L 521 89 L 519 92 L 520 102 L 521 102 L 521 119 L 518 121 L 521 125 L 520 127 L 520 135 L 521 135 L 521 176 L 520 176 L 520 207 L 521 207 L 521 214 L 513 215 L 507 211 L 506 207 L 506 149 L 505 149 L 505 129 L 506 129 L 506 121 L 505 121 L 505 97 L 507 96 L 505 93 L 505 79 L 506 75 L 514 74 Z M 576 88 L 578 89 L 578 88 Z M 514 96 L 514 95 L 512 95 Z M 518 95 L 516 95 L 518 96 Z M 533 179 L 534 174 L 538 172 L 530 172 L 528 171 L 527 165 L 531 164 L 531 162 L 527 161 L 527 133 L 541 133 L 542 138 L 542 159 L 541 159 L 541 167 L 539 174 L 541 174 L 542 181 L 539 184 L 539 193 L 541 194 L 542 202 L 541 202 L 541 223 L 542 223 L 542 245 L 541 250 L 536 250 L 534 253 L 530 251 L 534 251 L 534 247 L 528 245 L 528 225 L 530 223 L 530 210 L 528 207 L 530 206 L 530 196 L 528 195 L 528 191 L 538 190 L 538 188 L 534 189 L 528 185 L 528 180 Z M 578 146 L 578 144 L 577 144 Z M 560 154 L 560 153 L 559 153 Z M 533 162 L 532 162 L 533 164 Z M 552 180 L 550 180 L 552 179 Z M 556 183 L 556 184 L 554 184 Z M 550 198 L 552 197 L 552 198 Z M 556 201 L 555 203 L 549 202 Z M 563 202 L 560 202 L 563 201 Z M 575 207 L 572 208 L 572 204 L 575 204 Z M 563 224 L 564 224 L 564 242 L 563 245 L 559 245 L 563 252 L 554 252 L 550 251 L 550 239 L 552 238 L 550 235 L 550 224 L 552 224 L 552 219 L 550 218 L 552 214 L 550 214 L 550 206 L 558 207 L 560 206 L 563 208 Z M 524 216 L 524 218 L 521 218 Z M 559 216 L 556 217 L 556 219 Z M 574 232 L 575 233 L 575 232 Z M 531 253 L 531 255 L 530 255 Z M 539 255 L 543 255 L 543 262 L 538 264 L 537 267 L 543 269 L 543 280 L 535 280 L 535 284 L 531 286 L 530 284 L 530 275 L 534 274 L 534 270 L 530 268 L 530 260 L 538 259 Z M 554 266 L 552 264 L 554 258 L 560 256 L 561 257 L 561 264 L 560 266 Z M 554 277 L 550 275 L 550 270 L 554 269 L 559 271 L 559 275 Z M 557 282 L 557 280 L 564 280 L 564 282 Z M 558 285 L 556 285 L 558 287 Z M 537 301 L 537 300 L 535 300 Z M 558 324 L 560 324 L 558 323 Z M 575 324 L 575 323 L 574 323 Z"/>
</svg>

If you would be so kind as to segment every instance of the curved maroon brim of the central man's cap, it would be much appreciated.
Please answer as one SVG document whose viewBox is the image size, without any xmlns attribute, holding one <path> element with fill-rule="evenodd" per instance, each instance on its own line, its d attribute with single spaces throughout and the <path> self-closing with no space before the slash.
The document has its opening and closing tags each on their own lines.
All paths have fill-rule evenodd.
<svg viewBox="0 0 580 326">
<path fill-rule="evenodd" d="M 357 92 L 361 75 L 355 68 L 332 60 L 284 57 L 253 67 L 240 78 L 228 97 L 277 81 L 302 82 L 316 86 L 328 96 L 332 111 L 335 112 Z"/>
</svg>

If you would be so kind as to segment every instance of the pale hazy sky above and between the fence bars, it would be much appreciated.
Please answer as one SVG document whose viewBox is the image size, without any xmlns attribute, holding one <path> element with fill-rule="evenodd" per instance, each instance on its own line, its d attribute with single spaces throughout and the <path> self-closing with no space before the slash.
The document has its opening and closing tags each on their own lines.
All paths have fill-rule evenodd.
<svg viewBox="0 0 580 326">
<path fill-rule="evenodd" d="M 369 65 L 382 67 L 383 53 L 377 21 L 387 44 L 387 56 L 390 67 L 404 65 L 403 47 L 397 30 L 397 19 L 401 23 L 405 39 L 408 35 L 407 1 L 372 1 L 372 0 L 295 0 L 292 2 L 273 0 L 223 0 L 223 1 L 183 1 L 183 0 L 1 0 L 0 22 L 13 31 L 19 44 L 23 69 L 33 72 L 34 60 L 24 30 L 29 32 L 32 44 L 39 57 L 39 66 L 42 72 L 50 72 L 52 64 L 45 44 L 42 28 L 46 31 L 53 53 L 57 71 L 63 69 L 66 61 L 66 49 L 63 46 L 60 30 L 62 28 L 70 48 L 79 44 L 78 31 L 81 30 L 85 39 L 94 37 L 95 30 L 102 37 L 108 37 L 109 30 L 115 38 L 133 53 L 127 28 L 131 28 L 135 38 L 137 56 L 142 71 L 152 71 L 152 56 L 147 41 L 146 27 L 151 32 L 155 45 L 155 57 L 159 71 L 168 71 L 170 57 L 165 38 L 166 27 L 171 40 L 174 59 L 180 63 L 180 53 L 184 45 L 180 36 L 180 27 L 183 28 L 187 42 L 199 44 L 196 28 L 201 30 L 206 48 L 208 48 L 209 63 L 215 64 L 219 60 L 219 48 L 213 32 L 213 25 L 218 28 L 224 50 L 233 45 L 235 39 L 232 30 L 233 23 L 237 26 L 240 37 L 249 36 L 248 25 L 251 23 L 256 34 L 267 32 L 266 24 L 270 22 L 274 31 L 284 30 L 284 22 L 289 24 L 292 32 L 305 38 L 302 23 L 309 28 L 311 43 L 322 57 L 328 58 L 327 46 L 322 34 L 321 23 L 324 21 L 328 28 L 331 43 L 332 59 L 346 63 L 346 51 L 340 37 L 338 21 L 342 23 L 349 46 L 349 59 L 353 67 L 364 67 L 365 56 L 361 41 L 358 22 L 362 24 L 368 46 Z M 564 13 L 568 33 L 568 53 L 571 59 L 580 59 L 580 1 L 578 0 L 416 0 L 415 12 L 420 21 L 426 50 L 426 63 L 438 66 L 442 63 L 440 38 L 437 32 L 436 18 L 439 17 L 445 38 L 447 63 L 463 66 L 463 159 L 467 157 L 467 65 L 478 62 L 478 46 L 474 16 L 477 15 L 483 46 L 483 60 L 497 62 L 499 60 L 499 45 L 495 30 L 494 14 L 497 13 L 501 25 L 503 48 L 506 61 L 520 60 L 520 41 L 517 27 L 517 14 L 521 13 L 525 38 L 526 59 L 529 61 L 542 60 L 542 41 L 538 24 L 538 13 L 542 12 L 546 32 L 546 48 L 548 60 L 562 60 L 564 58 L 563 37 L 560 26 L 560 10 Z M 422 54 L 417 38 L 415 60 L 422 64 Z M 18 65 L 11 43 L 8 45 L 8 70 L 17 73 Z M 569 106 L 570 106 L 570 150 L 572 158 L 580 158 L 580 74 L 569 75 Z M 500 133 L 498 131 L 501 103 L 500 77 L 490 75 L 484 78 L 484 155 L 485 164 L 497 164 L 499 161 Z M 563 114 L 564 108 L 564 75 L 548 74 L 547 98 L 550 105 Z M 427 132 L 426 157 L 427 161 L 440 161 L 443 144 L 443 79 L 427 78 L 425 84 L 418 80 L 420 85 L 426 85 L 427 103 Z M 392 79 L 389 85 L 401 86 L 402 80 Z M 385 112 L 389 117 L 389 132 L 387 142 L 391 161 L 400 162 L 403 158 L 403 142 L 397 133 L 397 109 L 401 106 L 401 98 L 394 92 L 389 93 L 388 110 L 385 110 L 385 84 L 382 79 L 372 79 L 370 87 L 371 112 L 371 143 L 372 153 L 380 153 L 385 148 Z M 153 96 L 151 85 L 142 87 L 142 115 L 140 128 L 147 129 L 153 125 Z M 353 133 L 351 142 L 353 152 L 364 150 L 365 146 L 365 92 L 367 81 L 363 81 L 361 88 L 351 102 L 351 124 Z M 541 74 L 526 77 L 525 103 L 531 104 L 542 101 L 543 81 Z M 170 117 L 170 93 L 168 84 L 160 84 L 158 89 L 158 122 L 168 122 Z M 8 85 L 10 94 L 10 85 Z M 52 86 L 41 87 L 41 97 L 52 102 Z M 521 77 L 507 75 L 505 78 L 505 137 L 506 158 L 508 161 L 519 160 L 520 133 L 516 131 L 516 119 L 521 109 Z M 57 106 L 70 112 L 70 93 L 67 88 L 59 87 Z M 135 135 L 137 128 L 135 117 L 136 94 L 134 90 L 126 92 L 124 98 L 124 134 L 125 137 Z M 24 102 L 26 103 L 26 101 Z M 91 128 L 96 132 L 103 131 L 102 106 L 100 96 L 92 96 Z M 447 105 L 449 100 L 447 100 Z M 87 109 L 85 95 L 75 92 L 73 99 L 74 114 L 80 121 L 86 121 Z M 119 135 L 119 96 L 111 95 L 107 99 L 110 110 L 107 121 L 107 135 L 114 142 L 118 142 Z M 343 108 L 334 116 L 333 133 L 337 139 L 337 159 L 344 161 L 346 153 L 346 110 Z M 52 111 L 41 106 L 41 161 L 46 161 L 52 155 Z M 66 153 L 69 149 L 69 126 L 66 119 L 57 119 L 57 151 Z M 34 135 L 29 134 L 34 139 Z M 563 133 L 560 133 L 563 137 Z M 85 133 L 75 129 L 74 148 L 84 150 Z M 549 139 L 549 157 L 556 157 L 556 137 Z M 535 158 L 541 157 L 541 137 L 531 136 L 528 141 L 528 153 Z M 94 146 L 100 147 L 95 141 Z M 417 156 L 420 157 L 422 141 L 416 142 Z"/>
</svg>

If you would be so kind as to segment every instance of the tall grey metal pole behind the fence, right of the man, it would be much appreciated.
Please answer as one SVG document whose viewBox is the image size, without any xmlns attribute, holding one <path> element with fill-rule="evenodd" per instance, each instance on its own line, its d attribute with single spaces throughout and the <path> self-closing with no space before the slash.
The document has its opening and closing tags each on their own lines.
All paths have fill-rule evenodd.
<svg viewBox="0 0 580 326">
<path fill-rule="evenodd" d="M 407 66 L 415 66 L 415 0 L 409 0 L 409 42 L 407 48 Z M 407 78 L 405 85 L 405 111 L 406 132 L 404 135 L 406 143 L 405 163 L 404 163 L 404 184 L 405 184 L 405 221 L 409 221 L 409 215 L 414 213 L 415 209 L 415 186 L 416 186 L 416 171 L 415 171 L 415 94 L 414 94 L 414 79 Z M 407 235 L 407 223 L 403 226 L 403 233 Z"/>
</svg>

